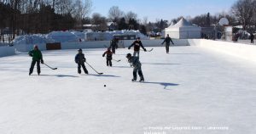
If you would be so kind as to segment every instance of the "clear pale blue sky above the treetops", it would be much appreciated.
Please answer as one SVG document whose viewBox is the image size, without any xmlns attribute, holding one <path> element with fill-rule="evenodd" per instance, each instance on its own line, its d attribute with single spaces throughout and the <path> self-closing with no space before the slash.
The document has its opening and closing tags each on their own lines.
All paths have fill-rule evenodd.
<svg viewBox="0 0 256 134">
<path fill-rule="evenodd" d="M 132 11 L 138 14 L 139 19 L 148 17 L 149 21 L 156 19 L 172 20 L 199 14 L 217 14 L 230 11 L 236 0 L 91 0 L 92 12 L 108 17 L 108 10 L 113 6 L 127 13 Z"/>
</svg>

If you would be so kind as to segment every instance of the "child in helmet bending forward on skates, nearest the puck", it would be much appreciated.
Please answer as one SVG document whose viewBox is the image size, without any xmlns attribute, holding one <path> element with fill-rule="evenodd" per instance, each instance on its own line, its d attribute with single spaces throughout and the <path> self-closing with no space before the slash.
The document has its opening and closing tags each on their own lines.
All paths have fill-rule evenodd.
<svg viewBox="0 0 256 134">
<path fill-rule="evenodd" d="M 128 62 L 133 66 L 133 78 L 131 81 L 137 81 L 137 72 L 140 76 L 140 82 L 144 81 L 143 76 L 143 70 L 142 70 L 142 64 L 139 61 L 138 57 L 131 56 L 131 53 L 127 53 L 126 58 L 128 59 Z"/>
</svg>

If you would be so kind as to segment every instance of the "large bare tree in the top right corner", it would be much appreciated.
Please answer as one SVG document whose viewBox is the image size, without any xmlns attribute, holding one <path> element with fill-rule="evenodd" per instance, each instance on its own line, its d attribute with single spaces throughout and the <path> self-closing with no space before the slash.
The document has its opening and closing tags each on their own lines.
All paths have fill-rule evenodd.
<svg viewBox="0 0 256 134">
<path fill-rule="evenodd" d="M 240 21 L 244 30 L 253 22 L 253 15 L 255 15 L 254 0 L 238 0 L 231 8 L 232 13 L 236 15 L 237 20 Z"/>
</svg>

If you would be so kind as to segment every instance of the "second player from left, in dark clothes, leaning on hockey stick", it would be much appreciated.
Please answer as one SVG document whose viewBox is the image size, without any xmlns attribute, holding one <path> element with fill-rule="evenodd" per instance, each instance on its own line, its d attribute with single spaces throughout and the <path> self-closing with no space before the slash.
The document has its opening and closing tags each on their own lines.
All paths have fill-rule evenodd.
<svg viewBox="0 0 256 134">
<path fill-rule="evenodd" d="M 88 70 L 86 70 L 84 62 L 86 62 L 86 59 L 84 58 L 84 53 L 81 48 L 79 48 L 79 53 L 75 57 L 75 62 L 78 64 L 78 73 L 81 74 L 81 66 L 84 70 L 85 74 L 88 74 Z"/>
</svg>

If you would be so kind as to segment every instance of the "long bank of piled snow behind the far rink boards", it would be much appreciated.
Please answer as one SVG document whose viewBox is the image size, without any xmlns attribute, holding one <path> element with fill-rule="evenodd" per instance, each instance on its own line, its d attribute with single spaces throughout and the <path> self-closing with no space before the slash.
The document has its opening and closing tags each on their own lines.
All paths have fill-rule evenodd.
<svg viewBox="0 0 256 134">
<path fill-rule="evenodd" d="M 149 37 L 143 35 L 140 31 L 106 31 L 94 32 L 90 30 L 80 31 L 52 31 L 47 35 L 34 34 L 26 36 L 17 36 L 14 44 L 39 44 L 48 42 L 79 42 L 79 41 L 110 41 L 113 36 L 136 36 L 143 40 Z"/>
</svg>

